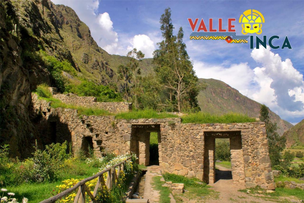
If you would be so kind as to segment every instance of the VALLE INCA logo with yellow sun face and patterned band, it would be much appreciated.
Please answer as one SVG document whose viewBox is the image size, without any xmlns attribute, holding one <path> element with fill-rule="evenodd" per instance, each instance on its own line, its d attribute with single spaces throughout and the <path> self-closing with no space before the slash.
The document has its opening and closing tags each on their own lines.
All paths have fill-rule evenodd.
<svg viewBox="0 0 304 203">
<path fill-rule="evenodd" d="M 192 29 L 190 40 L 225 40 L 229 44 L 247 44 L 250 40 L 250 49 L 253 49 L 254 47 L 258 49 L 260 45 L 264 48 L 267 47 L 267 35 L 263 35 L 263 39 L 260 39 L 257 36 L 262 33 L 262 26 L 265 23 L 264 16 L 261 12 L 254 9 L 248 9 L 241 13 L 239 18 L 240 24 L 237 26 L 233 24 L 233 22 L 236 21 L 236 18 L 228 18 L 226 20 L 226 27 L 228 29 L 223 28 L 224 21 L 222 18 L 218 18 L 217 22 L 213 18 L 209 18 L 209 20 L 205 21 L 202 18 L 199 24 L 199 18 L 195 18 L 194 21 L 191 18 L 188 18 L 188 21 Z M 206 26 L 206 22 L 209 22 L 208 27 Z M 236 34 L 237 30 L 240 30 L 243 35 L 238 36 Z M 255 41 L 254 35 L 248 36 L 247 34 L 255 34 Z M 278 35 L 271 36 L 268 39 L 268 45 L 273 49 L 280 48 L 279 45 L 275 46 L 273 44 L 273 42 L 278 43 L 278 40 L 274 39 L 279 38 Z M 292 49 L 287 36 L 281 46 L 281 49 L 284 48 Z"/>
</svg>

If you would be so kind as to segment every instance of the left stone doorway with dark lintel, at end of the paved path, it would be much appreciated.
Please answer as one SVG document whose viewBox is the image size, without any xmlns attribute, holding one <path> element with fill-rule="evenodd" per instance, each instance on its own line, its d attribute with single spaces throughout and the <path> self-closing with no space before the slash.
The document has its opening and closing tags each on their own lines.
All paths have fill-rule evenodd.
<svg viewBox="0 0 304 203">
<path fill-rule="evenodd" d="M 155 150 L 155 146 L 153 146 L 154 149 L 152 150 L 152 145 L 151 145 L 151 151 L 150 151 L 150 137 L 152 137 L 150 136 L 151 134 L 152 136 L 155 136 L 157 134 L 158 150 Z M 139 164 L 143 164 L 144 166 L 149 166 L 150 164 L 158 163 L 159 165 L 159 161 L 157 162 L 157 160 L 154 159 L 156 157 L 158 157 L 159 160 L 161 159 L 160 144 L 161 144 L 161 131 L 159 124 L 132 125 L 130 151 L 136 153 Z M 153 155 L 150 155 L 150 152 L 153 153 Z M 158 153 L 158 155 L 156 155 L 155 153 Z M 150 162 L 150 157 L 151 157 L 151 162 Z"/>
</svg>

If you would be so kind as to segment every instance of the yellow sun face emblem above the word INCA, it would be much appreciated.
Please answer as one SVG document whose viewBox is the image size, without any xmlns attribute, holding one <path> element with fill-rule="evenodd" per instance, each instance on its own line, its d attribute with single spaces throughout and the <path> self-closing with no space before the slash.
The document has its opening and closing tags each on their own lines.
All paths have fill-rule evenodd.
<svg viewBox="0 0 304 203">
<path fill-rule="evenodd" d="M 264 16 L 257 10 L 248 9 L 244 11 L 239 19 L 242 23 L 242 33 L 262 33 L 262 23 L 265 23 Z"/>
</svg>

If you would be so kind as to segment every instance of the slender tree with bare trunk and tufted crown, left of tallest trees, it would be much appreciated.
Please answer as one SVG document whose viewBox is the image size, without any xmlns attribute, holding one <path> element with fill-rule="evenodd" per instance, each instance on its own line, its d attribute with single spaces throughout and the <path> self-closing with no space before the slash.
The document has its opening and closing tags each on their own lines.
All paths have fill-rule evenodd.
<svg viewBox="0 0 304 203">
<path fill-rule="evenodd" d="M 139 62 L 145 57 L 145 55 L 143 54 L 143 52 L 137 51 L 136 48 L 133 48 L 132 51 L 128 52 L 127 57 L 130 58 L 128 67 L 131 69 L 131 71 L 134 75 L 134 85 L 135 85 L 135 89 L 136 89 L 136 80 L 137 80 L 136 73 L 138 75 L 140 75 L 140 68 L 138 68 L 138 66 L 139 66 Z M 137 108 L 138 106 L 137 106 L 136 91 L 134 91 L 134 96 L 135 96 L 135 106 Z"/>
</svg>

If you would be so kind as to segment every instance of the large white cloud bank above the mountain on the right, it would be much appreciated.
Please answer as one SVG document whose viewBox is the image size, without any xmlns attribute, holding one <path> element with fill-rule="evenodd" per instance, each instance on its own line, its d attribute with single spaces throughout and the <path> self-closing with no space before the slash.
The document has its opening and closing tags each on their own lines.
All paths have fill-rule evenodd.
<svg viewBox="0 0 304 203">
<path fill-rule="evenodd" d="M 282 61 L 271 49 L 254 49 L 251 57 L 262 67 L 250 69 L 247 63 L 212 66 L 194 61 L 199 78 L 222 80 L 241 94 L 267 105 L 282 118 L 304 115 L 303 75 L 293 66 L 290 59 Z"/>
</svg>

